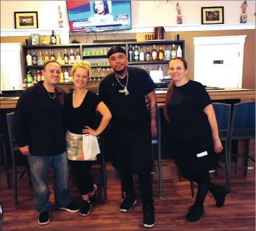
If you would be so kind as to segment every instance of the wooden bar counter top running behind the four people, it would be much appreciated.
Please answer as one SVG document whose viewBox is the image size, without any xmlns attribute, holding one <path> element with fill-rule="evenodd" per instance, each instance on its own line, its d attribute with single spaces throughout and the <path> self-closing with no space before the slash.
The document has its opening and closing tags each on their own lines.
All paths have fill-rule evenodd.
<svg viewBox="0 0 256 231">
<path fill-rule="evenodd" d="M 156 90 L 157 102 L 164 102 L 166 98 L 166 90 Z M 223 90 L 214 89 L 207 90 L 212 100 L 230 100 L 240 99 L 241 102 L 255 100 L 255 90 L 225 88 Z M 14 109 L 18 102 L 18 97 L 1 97 L 0 109 Z"/>
</svg>

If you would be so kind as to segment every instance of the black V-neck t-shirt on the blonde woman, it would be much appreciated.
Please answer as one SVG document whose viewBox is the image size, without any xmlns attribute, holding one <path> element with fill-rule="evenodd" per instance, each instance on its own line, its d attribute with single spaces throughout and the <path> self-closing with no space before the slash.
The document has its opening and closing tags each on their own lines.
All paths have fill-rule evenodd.
<svg viewBox="0 0 256 231">
<path fill-rule="evenodd" d="M 97 105 L 101 102 L 99 96 L 88 91 L 79 107 L 73 107 L 73 92 L 68 93 L 64 100 L 64 122 L 66 129 L 71 133 L 83 134 L 82 130 L 85 126 L 97 129 L 99 122 L 97 121 Z"/>
</svg>

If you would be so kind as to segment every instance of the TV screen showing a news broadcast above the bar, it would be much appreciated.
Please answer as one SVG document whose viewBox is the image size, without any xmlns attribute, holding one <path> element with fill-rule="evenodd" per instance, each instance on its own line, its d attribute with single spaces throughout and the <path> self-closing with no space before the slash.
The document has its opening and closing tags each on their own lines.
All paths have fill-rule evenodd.
<svg viewBox="0 0 256 231">
<path fill-rule="evenodd" d="M 131 1 L 66 1 L 71 33 L 131 29 Z"/>
</svg>

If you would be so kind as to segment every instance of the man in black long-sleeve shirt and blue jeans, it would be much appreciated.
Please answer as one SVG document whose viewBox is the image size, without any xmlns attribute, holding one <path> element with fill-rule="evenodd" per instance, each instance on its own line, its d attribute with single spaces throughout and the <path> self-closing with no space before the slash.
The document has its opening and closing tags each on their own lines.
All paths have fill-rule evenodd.
<svg viewBox="0 0 256 231">
<path fill-rule="evenodd" d="M 79 211 L 71 201 L 68 187 L 63 123 L 64 91 L 59 83 L 61 66 L 56 61 L 44 65 L 45 80 L 23 92 L 16 105 L 14 117 L 15 141 L 23 155 L 27 155 L 35 191 L 35 209 L 39 224 L 50 222 L 53 203 L 49 201 L 47 172 L 54 172 L 56 207 L 72 213 Z"/>
</svg>

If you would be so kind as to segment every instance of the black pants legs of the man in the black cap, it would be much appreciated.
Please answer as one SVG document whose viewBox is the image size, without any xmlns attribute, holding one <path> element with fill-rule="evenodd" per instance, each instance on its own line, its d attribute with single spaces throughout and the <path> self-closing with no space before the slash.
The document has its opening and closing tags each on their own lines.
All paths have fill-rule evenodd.
<svg viewBox="0 0 256 231">
<path fill-rule="evenodd" d="M 133 184 L 133 174 L 130 172 L 119 172 L 121 177 L 121 185 L 123 191 L 125 191 L 126 196 L 134 196 L 135 190 Z M 152 178 L 151 174 L 138 174 L 139 186 L 140 186 L 140 195 L 142 197 L 143 204 L 152 203 L 153 192 L 152 192 Z"/>
</svg>

